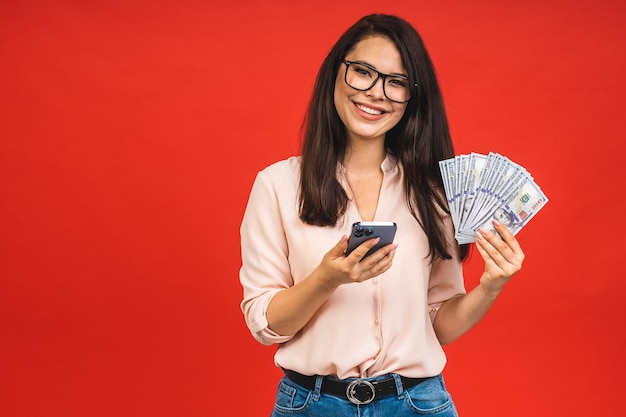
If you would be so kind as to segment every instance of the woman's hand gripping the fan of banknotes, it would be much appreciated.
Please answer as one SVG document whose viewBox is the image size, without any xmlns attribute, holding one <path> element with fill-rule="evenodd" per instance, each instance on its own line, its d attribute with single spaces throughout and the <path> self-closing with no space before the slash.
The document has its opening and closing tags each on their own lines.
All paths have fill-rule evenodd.
<svg viewBox="0 0 626 417">
<path fill-rule="evenodd" d="M 485 261 L 485 271 L 480 284 L 497 295 L 516 272 L 522 268 L 524 252 L 509 229 L 493 221 L 500 238 L 492 231 L 481 229 L 476 233 L 476 248 Z"/>
</svg>

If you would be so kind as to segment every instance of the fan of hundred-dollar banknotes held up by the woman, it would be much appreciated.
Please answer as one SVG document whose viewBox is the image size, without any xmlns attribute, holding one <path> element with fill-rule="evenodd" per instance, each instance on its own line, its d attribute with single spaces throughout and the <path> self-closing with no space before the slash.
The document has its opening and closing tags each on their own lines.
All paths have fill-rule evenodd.
<svg viewBox="0 0 626 417">
<path fill-rule="evenodd" d="M 548 202 L 526 169 L 497 153 L 459 155 L 439 162 L 455 238 L 476 240 L 476 231 L 495 232 L 493 219 L 515 235 Z"/>
</svg>

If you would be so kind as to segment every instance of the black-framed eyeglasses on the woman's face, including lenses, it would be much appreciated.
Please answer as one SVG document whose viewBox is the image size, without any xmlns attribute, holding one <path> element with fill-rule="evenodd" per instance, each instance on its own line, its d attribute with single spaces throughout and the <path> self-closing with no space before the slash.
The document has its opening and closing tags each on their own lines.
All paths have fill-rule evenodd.
<svg viewBox="0 0 626 417">
<path fill-rule="evenodd" d="M 367 91 L 376 85 L 379 78 L 382 78 L 383 93 L 389 100 L 396 103 L 406 103 L 411 98 L 409 79 L 404 75 L 385 74 L 363 62 L 344 59 L 343 63 L 346 64 L 344 79 L 349 87 L 359 91 Z"/>
</svg>

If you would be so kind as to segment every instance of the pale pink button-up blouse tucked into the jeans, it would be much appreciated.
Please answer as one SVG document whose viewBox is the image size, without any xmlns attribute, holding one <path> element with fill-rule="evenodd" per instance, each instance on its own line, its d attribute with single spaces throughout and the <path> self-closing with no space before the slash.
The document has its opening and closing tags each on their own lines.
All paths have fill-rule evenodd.
<svg viewBox="0 0 626 417">
<path fill-rule="evenodd" d="M 340 286 L 302 330 L 290 335 L 268 328 L 270 300 L 306 278 L 361 219 L 349 203 L 336 227 L 303 223 L 298 217 L 299 157 L 257 175 L 241 224 L 241 309 L 259 342 L 278 344 L 277 366 L 340 378 L 390 372 L 426 377 L 443 370 L 446 358 L 431 320 L 444 301 L 465 293 L 461 263 L 430 262 L 426 235 L 407 207 L 401 167 L 391 156 L 381 167 L 374 220 L 398 225 L 392 267 L 369 281 Z M 338 179 L 347 189 L 341 166 Z M 449 218 L 446 230 L 453 242 Z"/>
</svg>

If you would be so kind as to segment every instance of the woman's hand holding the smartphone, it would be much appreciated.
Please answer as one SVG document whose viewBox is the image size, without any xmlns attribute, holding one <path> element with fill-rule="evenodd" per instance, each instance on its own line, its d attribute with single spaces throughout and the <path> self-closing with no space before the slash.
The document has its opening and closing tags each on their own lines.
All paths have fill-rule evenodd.
<svg viewBox="0 0 626 417">
<path fill-rule="evenodd" d="M 346 256 L 348 237 L 343 236 L 322 258 L 317 267 L 318 279 L 323 280 L 325 285 L 336 288 L 342 284 L 363 282 L 387 271 L 393 263 L 397 244 L 383 246 L 363 259 L 378 241 L 379 238 L 367 240 Z"/>
</svg>

